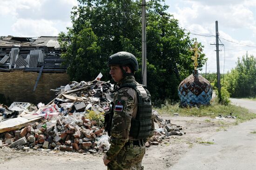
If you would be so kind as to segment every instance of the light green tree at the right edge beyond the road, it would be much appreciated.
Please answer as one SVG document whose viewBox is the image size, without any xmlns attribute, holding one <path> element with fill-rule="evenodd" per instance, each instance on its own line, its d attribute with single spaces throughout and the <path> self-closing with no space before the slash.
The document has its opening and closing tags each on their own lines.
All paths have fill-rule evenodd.
<svg viewBox="0 0 256 170">
<path fill-rule="evenodd" d="M 231 97 L 256 96 L 256 58 L 246 53 L 236 63 L 235 69 L 226 76 L 226 85 Z"/>
</svg>

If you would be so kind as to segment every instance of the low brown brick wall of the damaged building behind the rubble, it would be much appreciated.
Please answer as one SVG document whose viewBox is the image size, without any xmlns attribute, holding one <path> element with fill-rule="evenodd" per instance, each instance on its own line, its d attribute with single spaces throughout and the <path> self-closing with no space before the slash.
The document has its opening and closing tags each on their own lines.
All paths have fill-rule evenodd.
<svg viewBox="0 0 256 170">
<path fill-rule="evenodd" d="M 24 71 L 0 72 L 0 103 L 6 102 L 4 104 L 8 106 L 14 101 L 47 104 L 56 97 L 55 92 L 50 89 L 67 85 L 69 82 L 67 73 L 43 72 L 33 92 L 38 74 Z"/>
</svg>

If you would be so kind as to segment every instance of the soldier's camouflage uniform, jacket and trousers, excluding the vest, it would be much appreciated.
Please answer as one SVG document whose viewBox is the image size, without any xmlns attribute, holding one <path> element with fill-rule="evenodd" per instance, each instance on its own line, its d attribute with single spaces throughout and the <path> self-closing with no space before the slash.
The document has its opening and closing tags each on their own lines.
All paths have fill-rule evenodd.
<svg viewBox="0 0 256 170">
<path fill-rule="evenodd" d="M 134 76 L 123 78 L 119 85 L 129 81 L 135 81 Z M 145 144 L 141 142 L 139 145 L 133 145 L 133 138 L 129 137 L 131 119 L 136 117 L 137 112 L 136 93 L 133 88 L 123 87 L 115 94 L 111 145 L 106 153 L 107 159 L 110 160 L 108 170 L 144 169 L 141 161 L 145 155 Z"/>
</svg>

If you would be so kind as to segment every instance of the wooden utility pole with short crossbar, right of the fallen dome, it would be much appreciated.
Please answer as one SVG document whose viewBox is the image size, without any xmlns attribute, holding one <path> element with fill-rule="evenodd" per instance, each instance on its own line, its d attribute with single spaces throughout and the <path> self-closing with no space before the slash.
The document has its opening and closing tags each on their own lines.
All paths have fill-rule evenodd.
<svg viewBox="0 0 256 170">
<path fill-rule="evenodd" d="M 220 59 L 219 59 L 219 46 L 222 46 L 223 44 L 219 44 L 219 31 L 218 31 L 218 21 L 215 21 L 216 26 L 216 44 L 210 44 L 210 45 L 216 45 L 216 58 L 217 58 L 217 86 L 218 86 L 218 97 L 219 102 L 222 101 L 222 94 L 221 94 L 221 75 L 220 75 Z"/>
</svg>

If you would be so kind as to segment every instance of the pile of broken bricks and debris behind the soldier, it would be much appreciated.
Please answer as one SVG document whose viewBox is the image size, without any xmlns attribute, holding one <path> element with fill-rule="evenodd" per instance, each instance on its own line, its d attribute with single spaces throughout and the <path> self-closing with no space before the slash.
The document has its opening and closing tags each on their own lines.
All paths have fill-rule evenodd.
<svg viewBox="0 0 256 170">
<path fill-rule="evenodd" d="M 72 82 L 56 90 L 49 104 L 13 102 L 0 107 L 0 148 L 29 150 L 54 149 L 90 153 L 109 148 L 104 131 L 104 112 L 110 109 L 113 85 L 95 79 Z M 182 127 L 163 121 L 153 111 L 155 135 L 146 146 L 158 145 L 170 135 L 182 135 Z M 4 126 L 4 127 L 3 127 Z"/>
</svg>

